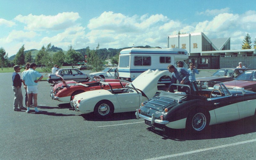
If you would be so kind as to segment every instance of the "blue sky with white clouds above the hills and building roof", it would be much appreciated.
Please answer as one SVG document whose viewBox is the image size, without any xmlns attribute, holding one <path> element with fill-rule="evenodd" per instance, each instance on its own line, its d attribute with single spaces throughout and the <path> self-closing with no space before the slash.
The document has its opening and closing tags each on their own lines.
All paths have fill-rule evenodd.
<svg viewBox="0 0 256 160">
<path fill-rule="evenodd" d="M 203 32 L 209 39 L 230 37 L 241 49 L 244 36 L 256 39 L 252 0 L 0 0 L 0 47 L 8 56 L 40 50 L 49 43 L 68 50 L 167 47 L 167 37 Z"/>
</svg>

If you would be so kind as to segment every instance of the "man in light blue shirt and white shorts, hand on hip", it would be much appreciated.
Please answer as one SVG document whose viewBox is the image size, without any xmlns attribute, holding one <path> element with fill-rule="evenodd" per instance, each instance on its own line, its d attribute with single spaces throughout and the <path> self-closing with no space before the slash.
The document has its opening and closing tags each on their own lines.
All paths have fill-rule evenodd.
<svg viewBox="0 0 256 160">
<path fill-rule="evenodd" d="M 27 111 L 26 113 L 29 113 L 29 106 L 31 103 L 32 95 L 33 95 L 33 100 L 34 100 L 34 107 L 35 107 L 35 113 L 40 113 L 37 109 L 37 94 L 38 94 L 38 89 L 37 89 L 37 82 L 42 80 L 44 76 L 35 71 L 36 70 L 36 64 L 35 63 L 30 63 L 30 68 L 24 72 L 24 75 L 22 77 L 22 80 L 25 81 L 25 84 L 27 85 L 27 92 L 28 92 L 28 102 L 27 102 Z M 37 79 L 37 77 L 40 77 Z"/>
</svg>

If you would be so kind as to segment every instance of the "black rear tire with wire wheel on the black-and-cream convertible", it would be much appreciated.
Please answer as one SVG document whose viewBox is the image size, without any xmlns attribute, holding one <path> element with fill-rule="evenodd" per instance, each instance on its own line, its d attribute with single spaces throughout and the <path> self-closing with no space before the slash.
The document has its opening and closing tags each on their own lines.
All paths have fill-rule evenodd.
<svg viewBox="0 0 256 160">
<path fill-rule="evenodd" d="M 207 133 L 209 123 L 209 112 L 199 109 L 189 114 L 186 122 L 186 129 L 189 133 Z"/>
</svg>

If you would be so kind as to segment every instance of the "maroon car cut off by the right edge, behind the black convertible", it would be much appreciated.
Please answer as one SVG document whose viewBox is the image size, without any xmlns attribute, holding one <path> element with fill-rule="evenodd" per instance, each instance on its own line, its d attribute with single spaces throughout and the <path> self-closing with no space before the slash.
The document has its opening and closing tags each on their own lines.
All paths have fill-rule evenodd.
<svg viewBox="0 0 256 160">
<path fill-rule="evenodd" d="M 256 70 L 245 71 L 236 80 L 223 83 L 228 89 L 242 89 L 256 92 Z"/>
</svg>

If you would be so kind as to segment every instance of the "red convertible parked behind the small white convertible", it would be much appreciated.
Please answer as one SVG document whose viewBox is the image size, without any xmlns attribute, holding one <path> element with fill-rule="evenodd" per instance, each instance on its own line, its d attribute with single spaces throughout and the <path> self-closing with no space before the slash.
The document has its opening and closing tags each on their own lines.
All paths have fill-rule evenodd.
<svg viewBox="0 0 256 160">
<path fill-rule="evenodd" d="M 111 84 L 111 87 L 113 89 L 115 88 L 124 88 L 124 86 L 127 84 L 127 82 L 120 82 L 120 80 L 117 79 L 102 79 L 100 76 L 91 75 L 91 77 L 88 77 L 87 80 L 83 81 L 65 81 L 61 76 L 60 77 L 62 82 L 56 84 L 53 88 L 50 90 L 50 96 L 53 100 L 58 100 L 61 102 L 70 102 L 72 100 L 72 96 L 75 96 L 77 94 L 91 91 L 91 90 L 98 90 L 98 89 L 110 89 L 108 85 L 100 85 L 101 82 L 108 82 Z"/>
</svg>

